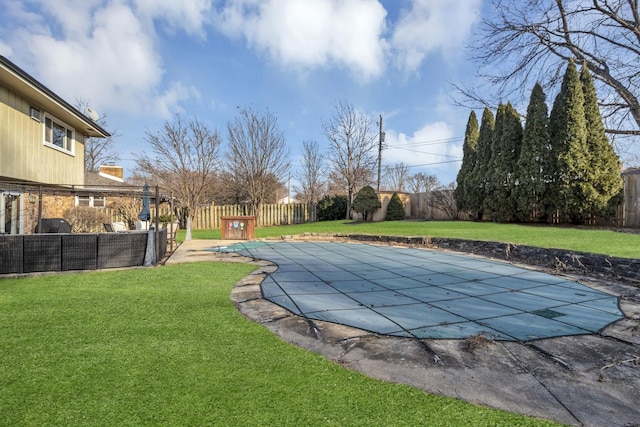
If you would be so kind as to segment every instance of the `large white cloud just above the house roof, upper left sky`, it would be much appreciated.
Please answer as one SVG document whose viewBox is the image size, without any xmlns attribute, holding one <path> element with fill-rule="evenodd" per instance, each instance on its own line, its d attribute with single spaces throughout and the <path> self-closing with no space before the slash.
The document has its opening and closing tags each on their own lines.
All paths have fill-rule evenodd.
<svg viewBox="0 0 640 427">
<path fill-rule="evenodd" d="M 139 111 L 162 78 L 153 36 L 125 5 L 99 8 L 90 20 L 87 31 L 64 27 L 75 33 L 71 38 L 23 34 L 39 76 L 67 98 Z"/>
</svg>

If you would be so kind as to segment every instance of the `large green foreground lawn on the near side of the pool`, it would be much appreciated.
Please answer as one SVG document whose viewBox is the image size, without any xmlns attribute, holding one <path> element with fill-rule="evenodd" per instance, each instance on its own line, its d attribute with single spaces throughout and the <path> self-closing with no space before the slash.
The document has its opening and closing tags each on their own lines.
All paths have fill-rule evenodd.
<svg viewBox="0 0 640 427">
<path fill-rule="evenodd" d="M 252 269 L 0 280 L 0 424 L 554 425 L 373 380 L 283 342 L 230 301 Z"/>
</svg>

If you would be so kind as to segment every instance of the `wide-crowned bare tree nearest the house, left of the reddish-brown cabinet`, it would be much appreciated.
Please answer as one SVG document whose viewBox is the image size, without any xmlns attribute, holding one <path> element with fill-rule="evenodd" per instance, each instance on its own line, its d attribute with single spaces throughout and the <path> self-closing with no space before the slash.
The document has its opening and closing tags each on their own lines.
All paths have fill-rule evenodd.
<svg viewBox="0 0 640 427">
<path fill-rule="evenodd" d="M 140 155 L 138 168 L 143 176 L 171 190 L 185 208 L 185 239 L 191 240 L 191 215 L 207 201 L 218 167 L 220 136 L 195 117 L 185 123 L 176 116 L 162 130 L 147 131 L 145 139 L 153 156 Z"/>
</svg>

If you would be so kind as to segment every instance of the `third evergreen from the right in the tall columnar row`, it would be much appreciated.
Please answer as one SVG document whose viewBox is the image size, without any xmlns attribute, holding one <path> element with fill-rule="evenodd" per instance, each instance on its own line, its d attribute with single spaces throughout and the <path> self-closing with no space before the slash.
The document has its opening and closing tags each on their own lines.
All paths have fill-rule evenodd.
<svg viewBox="0 0 640 427">
<path fill-rule="evenodd" d="M 549 176 L 549 113 L 546 95 L 539 83 L 533 87 L 527 120 L 522 136 L 522 149 L 518 159 L 516 174 L 517 217 L 527 221 L 531 215 L 544 218 L 545 209 L 542 200 Z"/>
</svg>

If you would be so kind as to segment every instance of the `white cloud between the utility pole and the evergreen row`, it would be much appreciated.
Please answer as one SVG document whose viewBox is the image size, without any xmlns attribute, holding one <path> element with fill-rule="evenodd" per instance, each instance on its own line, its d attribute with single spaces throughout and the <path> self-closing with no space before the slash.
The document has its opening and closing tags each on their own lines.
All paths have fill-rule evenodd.
<svg viewBox="0 0 640 427">
<path fill-rule="evenodd" d="M 383 164 L 404 163 L 410 172 L 437 174 L 443 184 L 455 179 L 462 159 L 462 141 L 445 122 L 428 123 L 413 135 L 388 130 L 383 151 Z M 453 177 L 453 179 L 452 179 Z"/>
</svg>

